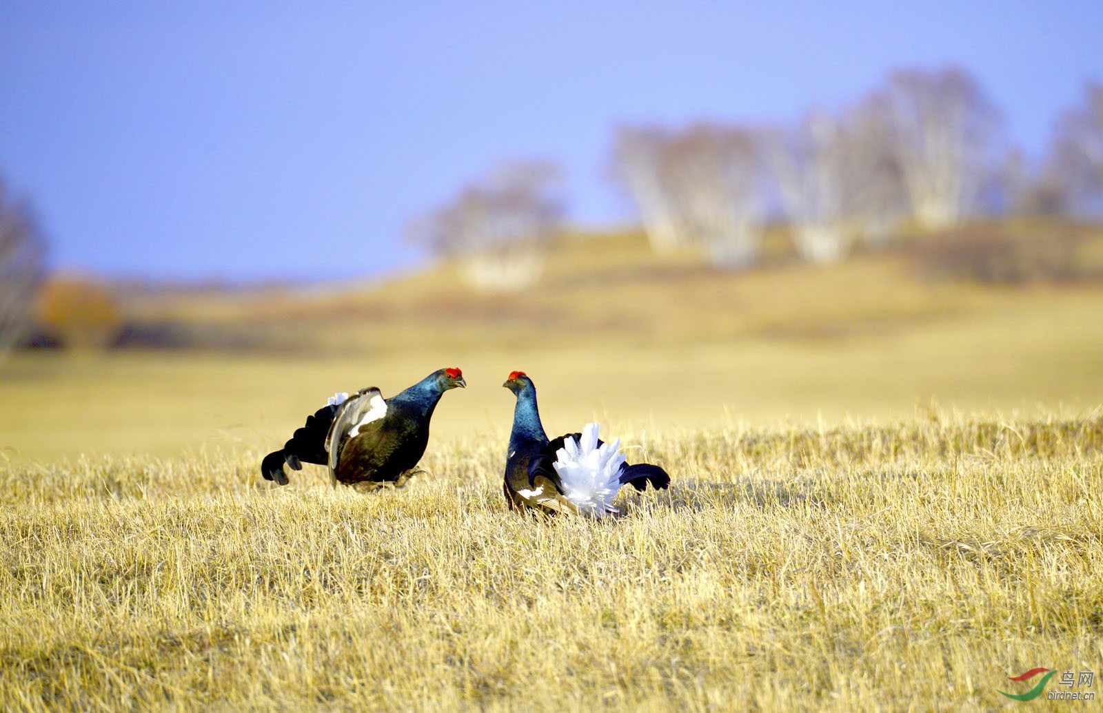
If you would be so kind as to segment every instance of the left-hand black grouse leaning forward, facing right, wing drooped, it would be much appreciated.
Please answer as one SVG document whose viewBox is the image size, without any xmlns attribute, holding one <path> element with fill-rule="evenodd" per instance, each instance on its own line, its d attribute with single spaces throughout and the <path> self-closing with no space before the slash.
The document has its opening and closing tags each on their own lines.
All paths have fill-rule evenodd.
<svg viewBox="0 0 1103 713">
<path fill-rule="evenodd" d="M 401 486 L 425 454 L 429 420 L 445 391 L 465 387 L 459 369 L 439 369 L 389 399 L 375 387 L 338 393 L 297 429 L 279 451 L 260 462 L 266 480 L 287 485 L 283 464 L 328 465 L 332 483 Z"/>
</svg>

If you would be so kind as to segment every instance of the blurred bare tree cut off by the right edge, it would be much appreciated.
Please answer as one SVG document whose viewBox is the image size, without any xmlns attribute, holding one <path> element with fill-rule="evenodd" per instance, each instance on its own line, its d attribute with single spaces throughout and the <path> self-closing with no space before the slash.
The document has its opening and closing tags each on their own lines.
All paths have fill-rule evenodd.
<svg viewBox="0 0 1103 713">
<path fill-rule="evenodd" d="M 1089 84 L 1058 119 L 1045 174 L 1068 212 L 1103 215 L 1103 85 Z"/>
</svg>

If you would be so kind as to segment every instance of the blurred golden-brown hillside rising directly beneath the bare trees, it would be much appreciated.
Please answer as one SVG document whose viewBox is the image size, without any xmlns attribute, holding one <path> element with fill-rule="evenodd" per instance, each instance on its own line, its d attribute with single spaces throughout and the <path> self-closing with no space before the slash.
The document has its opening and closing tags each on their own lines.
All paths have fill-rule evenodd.
<svg viewBox="0 0 1103 713">
<path fill-rule="evenodd" d="M 831 267 L 797 261 L 784 230 L 760 267 L 729 271 L 684 251 L 656 257 L 641 233 L 565 236 L 533 288 L 479 293 L 454 268 L 363 285 L 130 291 L 138 346 L 378 352 L 536 338 L 656 343 L 732 336 L 836 338 L 1006 309 L 1030 290 L 1097 289 L 1103 229 L 974 225 L 906 237 Z M 998 307 L 997 307 L 998 304 Z"/>
</svg>

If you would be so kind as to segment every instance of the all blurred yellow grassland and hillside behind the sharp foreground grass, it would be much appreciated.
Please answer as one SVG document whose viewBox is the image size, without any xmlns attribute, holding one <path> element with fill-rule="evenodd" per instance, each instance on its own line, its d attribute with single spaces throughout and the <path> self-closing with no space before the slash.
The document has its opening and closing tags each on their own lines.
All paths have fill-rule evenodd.
<svg viewBox="0 0 1103 713">
<path fill-rule="evenodd" d="M 282 346 L 19 355 L 0 370 L 0 458 L 259 451 L 336 390 L 389 395 L 442 366 L 471 385 L 433 418 L 449 441 L 504 436 L 513 404 L 497 385 L 513 369 L 533 375 L 560 432 L 596 418 L 619 432 L 732 415 L 888 422 L 932 399 L 1027 417 L 1103 403 L 1103 283 L 934 278 L 909 255 L 731 272 L 657 258 L 638 234 L 576 236 L 538 285 L 508 296 L 472 293 L 449 266 L 311 292 L 142 293 L 135 318 Z M 1103 250 L 1085 261 L 1103 266 Z"/>
</svg>

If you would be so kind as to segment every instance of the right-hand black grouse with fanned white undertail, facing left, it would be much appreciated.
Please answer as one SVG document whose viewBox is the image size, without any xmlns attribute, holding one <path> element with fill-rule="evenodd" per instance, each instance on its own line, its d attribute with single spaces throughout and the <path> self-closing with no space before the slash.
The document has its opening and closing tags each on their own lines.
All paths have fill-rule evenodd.
<svg viewBox="0 0 1103 713">
<path fill-rule="evenodd" d="M 636 490 L 647 483 L 656 489 L 670 485 L 671 476 L 657 465 L 628 465 L 619 450 L 620 439 L 603 443 L 597 423 L 587 423 L 581 433 L 548 441 L 533 380 L 524 371 L 513 371 L 502 386 L 517 397 L 503 485 L 511 509 L 604 517 L 617 514 L 612 501 L 622 485 Z"/>
</svg>

